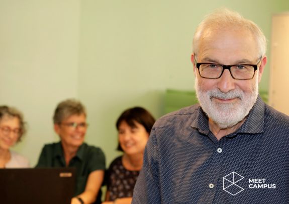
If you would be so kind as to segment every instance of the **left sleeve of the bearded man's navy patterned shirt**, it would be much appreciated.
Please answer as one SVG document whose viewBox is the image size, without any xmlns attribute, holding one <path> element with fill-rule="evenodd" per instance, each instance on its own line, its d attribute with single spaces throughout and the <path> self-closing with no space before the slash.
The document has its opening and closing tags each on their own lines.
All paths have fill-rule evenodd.
<svg viewBox="0 0 289 204">
<path fill-rule="evenodd" d="M 132 204 L 161 203 L 157 158 L 158 147 L 153 128 L 145 148 L 143 167 L 134 188 Z"/>
</svg>

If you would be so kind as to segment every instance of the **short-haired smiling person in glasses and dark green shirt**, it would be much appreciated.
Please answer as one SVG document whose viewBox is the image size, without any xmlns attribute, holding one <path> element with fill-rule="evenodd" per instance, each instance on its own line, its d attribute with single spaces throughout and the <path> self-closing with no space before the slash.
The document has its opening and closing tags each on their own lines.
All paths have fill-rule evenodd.
<svg viewBox="0 0 289 204">
<path fill-rule="evenodd" d="M 60 142 L 44 146 L 36 167 L 75 167 L 75 197 L 71 204 L 101 203 L 105 155 L 100 148 L 84 143 L 84 106 L 76 100 L 62 101 L 55 109 L 53 122 Z"/>
</svg>

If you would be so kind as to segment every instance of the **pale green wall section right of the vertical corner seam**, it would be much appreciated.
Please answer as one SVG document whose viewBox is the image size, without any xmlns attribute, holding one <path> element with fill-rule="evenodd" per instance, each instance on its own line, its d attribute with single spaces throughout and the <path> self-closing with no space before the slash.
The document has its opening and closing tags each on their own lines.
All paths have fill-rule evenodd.
<svg viewBox="0 0 289 204">
<path fill-rule="evenodd" d="M 271 15 L 289 10 L 287 0 L 103 0 L 81 6 L 78 93 L 91 111 L 87 141 L 103 147 L 108 161 L 117 155 L 115 121 L 124 109 L 141 105 L 159 117 L 166 89 L 194 89 L 191 41 L 206 14 L 223 6 L 237 10 L 270 39 Z M 268 67 L 261 90 L 268 90 Z"/>
</svg>

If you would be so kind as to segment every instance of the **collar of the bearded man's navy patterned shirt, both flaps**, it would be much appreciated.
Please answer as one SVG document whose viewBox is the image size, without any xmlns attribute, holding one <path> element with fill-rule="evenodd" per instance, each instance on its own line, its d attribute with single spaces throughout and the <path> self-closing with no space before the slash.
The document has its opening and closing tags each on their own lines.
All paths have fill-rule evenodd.
<svg viewBox="0 0 289 204">
<path fill-rule="evenodd" d="M 264 131 L 264 112 L 265 105 L 261 97 L 258 95 L 255 104 L 250 110 L 249 114 L 246 116 L 247 119 L 242 124 L 242 126 L 235 133 L 261 133 Z M 193 120 L 191 127 L 197 128 L 200 133 L 208 135 L 210 132 L 208 116 L 203 111 L 201 106 L 197 111 L 197 119 Z M 235 135 L 233 133 L 233 135 Z M 232 134 L 230 134 L 233 136 Z"/>
</svg>

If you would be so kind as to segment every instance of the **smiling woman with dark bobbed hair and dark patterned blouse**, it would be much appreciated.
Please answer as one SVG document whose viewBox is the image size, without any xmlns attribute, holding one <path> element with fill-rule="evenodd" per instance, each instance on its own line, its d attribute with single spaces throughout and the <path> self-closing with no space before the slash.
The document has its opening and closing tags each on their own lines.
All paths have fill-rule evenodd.
<svg viewBox="0 0 289 204">
<path fill-rule="evenodd" d="M 131 203 L 154 122 L 153 116 L 141 107 L 127 109 L 118 118 L 118 150 L 124 154 L 117 157 L 109 167 L 106 201 L 103 203 Z"/>
</svg>

